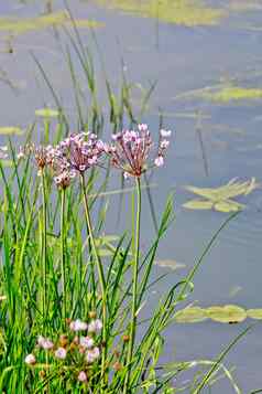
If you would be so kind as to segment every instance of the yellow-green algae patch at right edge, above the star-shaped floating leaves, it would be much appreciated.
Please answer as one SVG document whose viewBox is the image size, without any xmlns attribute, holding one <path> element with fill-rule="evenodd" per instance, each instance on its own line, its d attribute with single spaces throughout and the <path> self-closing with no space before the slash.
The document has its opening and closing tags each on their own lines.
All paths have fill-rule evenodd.
<svg viewBox="0 0 262 394">
<path fill-rule="evenodd" d="M 199 97 L 216 103 L 255 100 L 262 98 L 262 88 L 227 86 L 214 92 L 201 92 Z"/>
</svg>

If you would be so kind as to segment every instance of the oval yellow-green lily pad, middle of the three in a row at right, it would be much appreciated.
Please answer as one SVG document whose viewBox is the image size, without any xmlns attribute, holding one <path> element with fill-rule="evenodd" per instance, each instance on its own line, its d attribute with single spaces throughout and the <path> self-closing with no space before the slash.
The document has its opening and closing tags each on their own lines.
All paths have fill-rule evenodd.
<svg viewBox="0 0 262 394">
<path fill-rule="evenodd" d="M 247 312 L 243 308 L 236 305 L 226 305 L 223 307 L 214 306 L 206 309 L 206 316 L 211 320 L 221 323 L 241 322 L 247 319 Z"/>
</svg>

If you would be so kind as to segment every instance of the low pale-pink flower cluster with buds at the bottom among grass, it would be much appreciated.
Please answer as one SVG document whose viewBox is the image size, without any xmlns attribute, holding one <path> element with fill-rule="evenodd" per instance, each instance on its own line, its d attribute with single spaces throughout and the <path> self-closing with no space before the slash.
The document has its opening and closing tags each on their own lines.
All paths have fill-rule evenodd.
<svg viewBox="0 0 262 394">
<path fill-rule="evenodd" d="M 94 312 L 90 316 L 94 316 Z M 76 380 L 87 382 L 91 375 L 92 365 L 100 358 L 98 336 L 102 329 L 102 322 L 96 318 L 91 318 L 89 322 L 80 319 L 67 322 L 68 332 L 61 334 L 56 341 L 39 336 L 35 349 L 25 356 L 24 362 L 31 366 L 36 364 L 41 351 L 45 351 L 48 352 L 51 364 L 52 361 L 62 362 L 67 370 L 74 371 Z M 46 365 L 48 369 L 50 366 Z"/>
</svg>

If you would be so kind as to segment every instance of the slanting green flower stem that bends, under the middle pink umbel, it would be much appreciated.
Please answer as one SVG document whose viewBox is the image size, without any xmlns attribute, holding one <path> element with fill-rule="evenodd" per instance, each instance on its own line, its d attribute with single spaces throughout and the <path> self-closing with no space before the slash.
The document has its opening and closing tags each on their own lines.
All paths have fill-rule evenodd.
<svg viewBox="0 0 262 394">
<path fill-rule="evenodd" d="M 92 232 L 92 225 L 91 225 L 91 217 L 90 217 L 90 212 L 88 207 L 88 201 L 87 201 L 87 193 L 86 193 L 86 185 L 85 185 L 85 175 L 81 174 L 81 188 L 83 188 L 83 195 L 84 195 L 84 205 L 85 205 L 85 213 L 86 213 L 86 222 L 87 222 L 87 227 L 88 227 L 88 235 L 91 244 L 91 252 L 95 257 L 95 262 L 97 265 L 97 270 L 98 270 L 98 278 L 99 278 L 99 284 L 100 284 L 100 290 L 101 290 L 101 296 L 102 296 L 102 356 L 101 356 L 101 377 L 102 377 L 102 383 L 105 379 L 105 368 L 106 368 L 106 356 L 107 356 L 107 349 L 106 349 L 106 340 L 107 340 L 107 285 L 106 285 L 106 279 L 103 275 L 103 269 L 102 269 L 102 263 L 99 257 L 99 254 L 97 252 L 96 243 L 95 243 L 95 237 L 94 237 L 94 232 Z"/>
</svg>

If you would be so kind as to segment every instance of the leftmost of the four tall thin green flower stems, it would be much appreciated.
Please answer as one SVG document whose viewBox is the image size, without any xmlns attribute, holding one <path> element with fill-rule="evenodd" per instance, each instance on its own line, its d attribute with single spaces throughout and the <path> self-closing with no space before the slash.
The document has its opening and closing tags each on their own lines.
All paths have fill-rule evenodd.
<svg viewBox="0 0 262 394">
<path fill-rule="evenodd" d="M 47 295 L 47 259 L 46 259 L 46 195 L 45 195 L 45 179 L 44 169 L 41 170 L 42 182 L 42 203 L 43 203 L 43 217 L 42 217 L 42 278 L 44 284 L 43 291 L 43 319 L 44 327 L 47 316 L 46 295 Z"/>
</svg>

